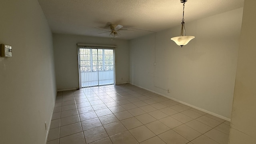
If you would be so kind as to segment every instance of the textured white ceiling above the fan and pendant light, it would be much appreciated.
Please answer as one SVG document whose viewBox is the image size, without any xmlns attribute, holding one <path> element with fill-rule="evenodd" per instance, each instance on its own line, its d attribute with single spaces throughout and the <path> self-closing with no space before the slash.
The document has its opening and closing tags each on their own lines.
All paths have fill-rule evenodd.
<svg viewBox="0 0 256 144">
<path fill-rule="evenodd" d="M 53 33 L 110 37 L 98 34 L 109 24 L 132 31 L 120 31 L 116 38 L 132 39 L 180 25 L 180 0 L 38 0 Z M 188 0 L 185 22 L 227 12 L 244 5 L 244 0 Z M 137 30 L 141 29 L 141 30 Z"/>
</svg>

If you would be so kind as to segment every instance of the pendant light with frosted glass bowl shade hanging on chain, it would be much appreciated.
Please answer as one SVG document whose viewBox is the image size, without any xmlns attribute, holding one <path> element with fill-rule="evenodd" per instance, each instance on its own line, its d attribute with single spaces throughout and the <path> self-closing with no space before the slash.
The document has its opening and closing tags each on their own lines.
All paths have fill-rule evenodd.
<svg viewBox="0 0 256 144">
<path fill-rule="evenodd" d="M 188 44 L 188 42 L 190 40 L 195 38 L 194 36 L 186 36 L 185 22 L 184 22 L 184 8 L 185 8 L 185 2 L 187 2 L 187 1 L 188 0 L 180 0 L 180 2 L 183 3 L 183 17 L 182 17 L 182 22 L 181 22 L 180 36 L 176 36 L 174 38 L 171 38 L 171 40 L 176 42 L 176 44 L 178 44 L 181 47 Z M 184 33 L 184 35 L 183 35 L 183 33 Z"/>
</svg>

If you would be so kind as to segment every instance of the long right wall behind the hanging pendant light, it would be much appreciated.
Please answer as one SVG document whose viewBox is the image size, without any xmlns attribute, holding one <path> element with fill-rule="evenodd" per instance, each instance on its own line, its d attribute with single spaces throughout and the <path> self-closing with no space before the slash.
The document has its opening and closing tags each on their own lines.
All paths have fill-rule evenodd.
<svg viewBox="0 0 256 144">
<path fill-rule="evenodd" d="M 230 119 L 242 10 L 186 23 L 196 38 L 183 48 L 170 40 L 180 26 L 130 40 L 131 83 Z M 155 44 L 155 85 L 166 90 L 154 87 Z"/>
</svg>

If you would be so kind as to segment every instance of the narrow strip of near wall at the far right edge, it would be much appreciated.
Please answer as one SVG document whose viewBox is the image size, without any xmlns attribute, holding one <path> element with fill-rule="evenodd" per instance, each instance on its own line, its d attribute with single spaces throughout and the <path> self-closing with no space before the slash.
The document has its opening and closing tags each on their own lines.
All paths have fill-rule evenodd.
<svg viewBox="0 0 256 144">
<path fill-rule="evenodd" d="M 256 1 L 244 1 L 229 144 L 256 144 Z"/>
</svg>

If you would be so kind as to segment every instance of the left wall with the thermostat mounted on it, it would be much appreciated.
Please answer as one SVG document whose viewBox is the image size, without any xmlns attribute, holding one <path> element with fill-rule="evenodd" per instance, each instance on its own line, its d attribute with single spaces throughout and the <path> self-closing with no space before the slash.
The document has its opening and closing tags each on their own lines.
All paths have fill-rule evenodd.
<svg viewBox="0 0 256 144">
<path fill-rule="evenodd" d="M 0 144 L 44 144 L 56 96 L 52 33 L 37 0 L 2 0 Z"/>
</svg>

